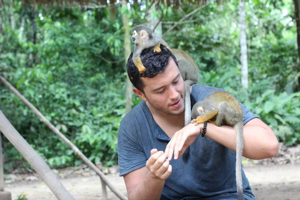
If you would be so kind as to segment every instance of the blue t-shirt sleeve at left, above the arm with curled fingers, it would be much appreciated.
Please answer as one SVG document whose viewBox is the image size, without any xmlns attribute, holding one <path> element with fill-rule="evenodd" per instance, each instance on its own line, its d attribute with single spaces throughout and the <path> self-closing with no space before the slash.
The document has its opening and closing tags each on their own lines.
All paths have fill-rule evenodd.
<svg viewBox="0 0 300 200">
<path fill-rule="evenodd" d="M 134 130 L 134 125 L 121 122 L 117 142 L 120 176 L 146 165 L 147 157 Z"/>
</svg>

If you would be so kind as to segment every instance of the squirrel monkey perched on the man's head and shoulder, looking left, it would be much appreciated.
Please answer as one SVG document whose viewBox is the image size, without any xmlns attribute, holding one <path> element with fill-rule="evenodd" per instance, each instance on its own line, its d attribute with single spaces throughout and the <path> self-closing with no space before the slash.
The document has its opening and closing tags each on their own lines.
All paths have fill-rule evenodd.
<svg viewBox="0 0 300 200">
<path fill-rule="evenodd" d="M 151 28 L 146 25 L 137 25 L 133 29 L 131 36 L 135 43 L 132 55 L 132 61 L 140 73 L 145 71 L 145 67 L 140 60 L 140 53 L 144 48 L 154 46 L 154 52 L 160 52 L 160 44 L 166 46 L 176 57 L 180 74 L 184 80 L 185 96 L 184 96 L 184 125 L 187 125 L 191 120 L 190 107 L 190 89 L 189 86 L 198 81 L 198 66 L 193 59 L 183 50 L 170 48 L 169 45 L 160 37 L 153 34 Z"/>
</svg>

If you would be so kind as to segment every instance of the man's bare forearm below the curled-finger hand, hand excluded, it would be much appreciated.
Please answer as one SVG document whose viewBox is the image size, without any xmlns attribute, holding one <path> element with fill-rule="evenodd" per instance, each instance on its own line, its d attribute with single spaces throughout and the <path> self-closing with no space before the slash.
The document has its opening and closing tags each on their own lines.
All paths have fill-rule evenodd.
<svg viewBox="0 0 300 200">
<path fill-rule="evenodd" d="M 136 185 L 128 194 L 129 200 L 155 200 L 161 196 L 164 180 L 154 177 L 149 171 L 144 180 Z"/>
</svg>

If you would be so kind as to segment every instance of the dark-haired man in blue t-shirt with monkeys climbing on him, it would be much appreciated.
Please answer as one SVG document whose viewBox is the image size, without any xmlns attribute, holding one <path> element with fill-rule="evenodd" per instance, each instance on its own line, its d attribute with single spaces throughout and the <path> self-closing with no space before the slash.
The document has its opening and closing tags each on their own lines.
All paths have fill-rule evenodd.
<svg viewBox="0 0 300 200">
<path fill-rule="evenodd" d="M 132 53 L 126 68 L 133 92 L 143 101 L 122 119 L 118 135 L 119 175 L 124 177 L 128 199 L 236 199 L 234 129 L 207 123 L 201 137 L 203 124 L 184 127 L 185 91 L 176 58 L 161 45 L 161 52 L 144 49 L 141 61 L 146 68 L 143 77 Z M 192 85 L 191 107 L 221 90 Z M 242 110 L 243 156 L 275 156 L 278 141 L 272 130 L 243 105 Z M 180 141 L 176 138 L 185 142 L 179 152 L 172 142 Z M 188 145 L 191 156 L 185 164 L 180 156 Z M 242 180 L 245 199 L 255 199 L 243 171 Z"/>
</svg>

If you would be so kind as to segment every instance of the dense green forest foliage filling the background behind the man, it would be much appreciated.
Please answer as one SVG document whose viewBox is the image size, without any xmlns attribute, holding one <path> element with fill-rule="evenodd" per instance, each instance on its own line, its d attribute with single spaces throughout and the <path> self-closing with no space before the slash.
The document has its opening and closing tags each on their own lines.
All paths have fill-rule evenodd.
<svg viewBox="0 0 300 200">
<path fill-rule="evenodd" d="M 198 83 L 226 89 L 280 141 L 292 145 L 300 143 L 296 26 L 292 1 L 272 2 L 246 2 L 247 89 L 240 86 L 238 1 L 210 3 L 187 18 L 195 7 L 160 5 L 151 17 L 162 18 L 163 39 L 198 64 Z M 119 6 L 114 18 L 108 8 L 34 8 L 19 0 L 13 9 L 8 4 L 2 9 L 0 74 L 94 163 L 117 162 L 118 126 L 125 112 L 122 13 L 133 27 L 146 22 L 150 4 Z M 132 104 L 140 100 L 133 95 Z M 0 109 L 51 167 L 82 162 L 1 84 Z M 29 167 L 5 138 L 4 153 L 6 171 Z"/>
</svg>

